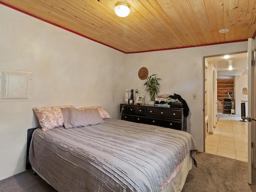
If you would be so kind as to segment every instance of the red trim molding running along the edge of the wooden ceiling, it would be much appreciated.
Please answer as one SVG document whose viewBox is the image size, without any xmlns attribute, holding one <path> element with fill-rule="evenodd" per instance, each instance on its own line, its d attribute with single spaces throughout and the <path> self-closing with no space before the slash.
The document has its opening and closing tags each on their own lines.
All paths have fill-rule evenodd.
<svg viewBox="0 0 256 192">
<path fill-rule="evenodd" d="M 2 5 L 4 5 L 4 6 L 7 6 L 7 7 L 9 7 L 9 8 L 12 8 L 12 9 L 14 9 L 14 10 L 17 10 L 17 11 L 19 11 L 19 12 L 22 12 L 22 13 L 24 13 L 24 14 L 27 14 L 27 15 L 29 15 L 29 16 L 32 16 L 32 17 L 34 17 L 34 18 L 37 18 L 37 19 L 39 19 L 39 20 L 41 20 L 41 21 L 44 21 L 44 22 L 46 22 L 46 23 L 52 24 L 52 25 L 54 25 L 54 26 L 56 26 L 56 27 L 59 27 L 59 28 L 62 28 L 62 29 L 64 29 L 64 30 L 67 30 L 67 31 L 69 31 L 69 32 L 72 32 L 72 33 L 74 33 L 74 34 L 77 34 L 77 35 L 79 35 L 79 36 L 82 36 L 82 37 L 84 37 L 84 38 L 87 38 L 87 39 L 89 39 L 89 40 L 92 40 L 92 41 L 94 41 L 94 42 L 97 42 L 97 43 L 100 43 L 100 44 L 102 44 L 102 45 L 108 46 L 108 47 L 110 47 L 110 48 L 112 48 L 112 49 L 118 50 L 118 51 L 120 51 L 120 52 L 122 52 L 122 53 L 125 53 L 125 54 L 144 53 L 144 52 L 163 51 L 163 50 L 173 50 L 173 49 L 183 49 L 183 48 L 191 48 L 191 47 L 201 47 L 201 46 L 208 46 L 208 45 L 218 45 L 218 44 L 226 44 L 226 43 L 234 43 L 234 42 L 248 41 L 248 39 L 243 39 L 243 40 L 236 40 L 236 41 L 228 41 L 228 42 L 218 42 L 218 43 L 212 43 L 212 44 L 195 45 L 195 46 L 184 46 L 184 47 L 165 48 L 165 49 L 157 49 L 157 50 L 146 50 L 146 51 L 137 51 L 137 52 L 124 52 L 124 51 L 119 50 L 119 49 L 117 49 L 117 48 L 114 48 L 114 47 L 112 47 L 112 46 L 110 46 L 110 45 L 104 44 L 103 42 L 100 42 L 100 41 L 95 40 L 95 39 L 92 39 L 92 38 L 90 38 L 90 37 L 88 37 L 88 36 L 84 36 L 84 35 L 82 35 L 82 34 L 80 34 L 80 33 L 78 33 L 78 32 L 75 32 L 75 31 L 73 31 L 73 30 L 70 30 L 70 29 L 68 29 L 68 28 L 66 28 L 66 27 L 60 26 L 60 25 L 55 24 L 55 23 L 53 23 L 53 22 L 50 22 L 50 21 L 47 21 L 47 20 L 45 20 L 45 19 L 39 18 L 39 17 L 37 17 L 37 16 L 34 16 L 34 15 L 28 13 L 28 12 L 25 12 L 25 11 L 23 11 L 23 10 L 20 10 L 19 8 L 16 8 L 16 7 L 12 6 L 12 5 L 9 5 L 9 4 L 5 3 L 5 2 L 0 1 L 0 4 L 2 4 Z M 254 32 L 254 35 L 253 35 L 252 38 L 254 39 L 255 37 L 256 37 L 256 31 Z"/>
</svg>

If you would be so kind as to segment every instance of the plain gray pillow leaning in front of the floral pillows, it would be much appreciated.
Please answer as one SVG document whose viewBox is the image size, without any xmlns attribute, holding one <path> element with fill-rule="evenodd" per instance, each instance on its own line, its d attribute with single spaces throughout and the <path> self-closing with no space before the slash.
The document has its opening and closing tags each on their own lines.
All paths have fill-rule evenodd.
<svg viewBox="0 0 256 192">
<path fill-rule="evenodd" d="M 75 108 L 62 108 L 65 128 L 77 128 L 82 126 L 103 123 L 98 109 L 78 110 Z"/>
</svg>

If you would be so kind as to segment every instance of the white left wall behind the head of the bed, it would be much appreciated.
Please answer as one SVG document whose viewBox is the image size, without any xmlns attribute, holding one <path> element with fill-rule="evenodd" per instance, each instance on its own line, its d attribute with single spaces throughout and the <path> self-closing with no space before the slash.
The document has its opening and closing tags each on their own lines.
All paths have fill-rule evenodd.
<svg viewBox="0 0 256 192">
<path fill-rule="evenodd" d="M 0 71 L 32 72 L 32 99 L 0 102 L 0 180 L 25 170 L 33 107 L 103 106 L 118 118 L 126 55 L 0 5 Z"/>
</svg>

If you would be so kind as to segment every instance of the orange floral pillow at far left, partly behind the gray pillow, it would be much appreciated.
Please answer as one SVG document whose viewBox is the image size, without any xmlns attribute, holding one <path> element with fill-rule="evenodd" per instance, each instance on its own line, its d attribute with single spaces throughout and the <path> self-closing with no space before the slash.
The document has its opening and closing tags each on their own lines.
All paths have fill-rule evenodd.
<svg viewBox="0 0 256 192">
<path fill-rule="evenodd" d="M 53 107 L 34 107 L 34 113 L 38 118 L 43 131 L 64 126 L 64 118 L 61 108 L 71 107 L 72 105 L 53 106 Z"/>
</svg>

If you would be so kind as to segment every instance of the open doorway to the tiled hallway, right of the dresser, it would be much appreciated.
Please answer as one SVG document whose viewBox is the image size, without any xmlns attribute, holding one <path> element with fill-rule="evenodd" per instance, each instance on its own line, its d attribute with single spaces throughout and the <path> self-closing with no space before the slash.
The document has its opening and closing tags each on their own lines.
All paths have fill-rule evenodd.
<svg viewBox="0 0 256 192">
<path fill-rule="evenodd" d="M 206 152 L 247 162 L 247 122 L 240 121 L 241 101 L 246 98 L 242 90 L 248 86 L 247 52 L 230 54 L 228 59 L 224 55 L 208 57 L 205 58 L 205 65 L 205 115 L 208 116 L 209 130 L 205 140 Z M 223 100 L 217 100 L 218 78 L 234 80 L 234 104 L 230 106 L 233 114 L 223 113 Z"/>
</svg>

